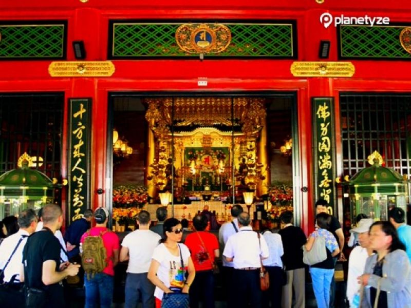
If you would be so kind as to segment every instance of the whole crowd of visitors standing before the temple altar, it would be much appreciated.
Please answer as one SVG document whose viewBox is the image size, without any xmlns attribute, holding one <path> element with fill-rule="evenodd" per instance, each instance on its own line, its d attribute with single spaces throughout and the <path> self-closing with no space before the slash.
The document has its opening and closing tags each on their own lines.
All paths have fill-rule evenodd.
<svg viewBox="0 0 411 308">
<path fill-rule="evenodd" d="M 37 215 L 27 209 L 18 218 L 2 221 L 0 303 L 63 308 L 63 284 L 71 280 L 84 283 L 86 308 L 111 307 L 114 267 L 128 261 L 126 308 L 139 302 L 143 308 L 173 306 L 173 300 L 186 307 L 213 308 L 216 259 L 221 253 L 228 307 L 305 307 L 307 265 L 317 307 L 334 307 L 334 268 L 337 260 L 346 260 L 345 239 L 327 207 L 324 200 L 317 201 L 315 230 L 308 239 L 293 225 L 290 211 L 281 215 L 277 233 L 266 226 L 259 233 L 253 231 L 250 215 L 236 204 L 231 209 L 233 221 L 220 226 L 217 238 L 209 232 L 207 210 L 193 218 L 193 230 L 185 221 L 167 219 L 166 207 L 157 209 L 158 223 L 150 228 L 150 213 L 141 210 L 138 229 L 121 245 L 118 235 L 107 228 L 106 208 L 86 210 L 83 218 L 70 224 L 64 239 L 59 206 L 47 204 Z M 401 208 L 391 208 L 388 219 L 373 221 L 360 214 L 350 231 L 350 307 L 411 307 L 411 227 Z M 267 288 L 260 285 L 265 271 Z"/>
</svg>

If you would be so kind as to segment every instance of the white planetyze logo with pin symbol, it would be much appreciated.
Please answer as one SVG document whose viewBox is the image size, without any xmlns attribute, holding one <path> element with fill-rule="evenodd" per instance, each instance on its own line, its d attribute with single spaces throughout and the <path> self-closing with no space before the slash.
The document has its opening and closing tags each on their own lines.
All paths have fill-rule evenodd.
<svg viewBox="0 0 411 308">
<path fill-rule="evenodd" d="M 360 17 L 349 17 L 343 14 L 339 16 L 332 16 L 330 13 L 323 13 L 320 16 L 320 23 L 325 28 L 328 28 L 334 22 L 334 27 L 338 25 L 365 25 L 365 26 L 377 26 L 377 25 L 389 25 L 389 17 L 370 17 L 368 15 Z"/>
</svg>

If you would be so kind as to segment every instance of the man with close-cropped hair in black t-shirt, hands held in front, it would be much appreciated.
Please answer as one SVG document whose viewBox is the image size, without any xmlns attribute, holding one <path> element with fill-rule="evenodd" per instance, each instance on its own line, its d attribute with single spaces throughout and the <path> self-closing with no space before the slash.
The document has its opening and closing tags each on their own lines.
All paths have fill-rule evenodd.
<svg viewBox="0 0 411 308">
<path fill-rule="evenodd" d="M 54 232 L 63 223 L 60 206 L 47 204 L 42 213 L 43 229 L 33 233 L 23 250 L 21 279 L 27 288 L 38 288 L 45 292 L 47 302 L 44 307 L 64 307 L 61 281 L 67 276 L 77 275 L 79 266 L 69 262 L 60 263 L 59 240 Z"/>
</svg>

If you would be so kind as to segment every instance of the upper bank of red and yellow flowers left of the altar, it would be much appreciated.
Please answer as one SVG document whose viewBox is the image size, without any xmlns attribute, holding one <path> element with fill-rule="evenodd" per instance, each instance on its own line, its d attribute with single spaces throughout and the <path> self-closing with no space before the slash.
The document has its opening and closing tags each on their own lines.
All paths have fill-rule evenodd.
<svg viewBox="0 0 411 308">
<path fill-rule="evenodd" d="M 142 208 L 147 199 L 148 194 L 145 186 L 122 185 L 113 189 L 113 207 Z"/>
</svg>

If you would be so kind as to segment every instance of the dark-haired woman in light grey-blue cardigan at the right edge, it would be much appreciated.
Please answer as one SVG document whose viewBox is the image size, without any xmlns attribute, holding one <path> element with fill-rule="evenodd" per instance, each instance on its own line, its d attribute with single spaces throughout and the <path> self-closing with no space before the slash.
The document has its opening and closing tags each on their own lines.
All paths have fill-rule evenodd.
<svg viewBox="0 0 411 308">
<path fill-rule="evenodd" d="M 368 257 L 358 282 L 364 288 L 361 307 L 411 307 L 411 267 L 397 230 L 389 221 L 373 223 Z"/>
</svg>

